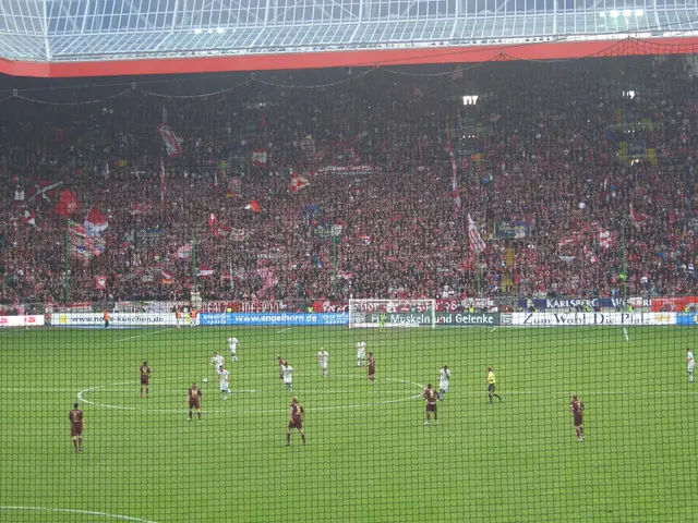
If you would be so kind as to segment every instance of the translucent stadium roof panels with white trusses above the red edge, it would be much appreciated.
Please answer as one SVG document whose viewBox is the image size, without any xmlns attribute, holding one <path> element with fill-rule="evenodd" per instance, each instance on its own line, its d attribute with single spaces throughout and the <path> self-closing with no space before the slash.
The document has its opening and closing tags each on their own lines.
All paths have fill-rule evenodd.
<svg viewBox="0 0 698 523">
<path fill-rule="evenodd" d="M 697 31 L 698 0 L 0 0 L 0 57 L 45 63 L 695 37 Z"/>
</svg>

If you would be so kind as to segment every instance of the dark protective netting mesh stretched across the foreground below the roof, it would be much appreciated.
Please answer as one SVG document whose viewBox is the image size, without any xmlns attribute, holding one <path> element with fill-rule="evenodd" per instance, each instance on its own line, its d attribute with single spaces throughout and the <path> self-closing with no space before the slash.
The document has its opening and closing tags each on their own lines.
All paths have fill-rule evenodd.
<svg viewBox="0 0 698 523">
<path fill-rule="evenodd" d="M 648 46 L 21 85 L 0 521 L 693 521 L 695 50 Z"/>
</svg>

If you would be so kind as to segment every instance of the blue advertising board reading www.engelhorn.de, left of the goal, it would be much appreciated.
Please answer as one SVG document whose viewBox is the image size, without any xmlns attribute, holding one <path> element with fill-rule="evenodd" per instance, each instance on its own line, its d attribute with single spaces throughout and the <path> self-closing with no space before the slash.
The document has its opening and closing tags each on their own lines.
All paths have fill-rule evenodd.
<svg viewBox="0 0 698 523">
<path fill-rule="evenodd" d="M 349 324 L 346 313 L 203 313 L 201 325 L 327 326 Z"/>
</svg>

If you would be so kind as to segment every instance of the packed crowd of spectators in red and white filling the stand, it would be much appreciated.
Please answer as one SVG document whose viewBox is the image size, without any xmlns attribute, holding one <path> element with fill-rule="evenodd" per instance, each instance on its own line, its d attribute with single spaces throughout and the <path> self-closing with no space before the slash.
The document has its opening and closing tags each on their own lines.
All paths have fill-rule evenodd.
<svg viewBox="0 0 698 523">
<path fill-rule="evenodd" d="M 0 303 L 181 300 L 194 285 L 208 299 L 696 294 L 693 73 L 641 57 L 5 100 Z M 179 97 L 224 84 L 240 85 Z M 49 181 L 63 183 L 35 195 Z M 73 221 L 55 212 L 65 190 Z M 85 256 L 70 231 L 93 206 L 106 248 Z M 525 227 L 502 238 L 502 223 Z"/>
</svg>

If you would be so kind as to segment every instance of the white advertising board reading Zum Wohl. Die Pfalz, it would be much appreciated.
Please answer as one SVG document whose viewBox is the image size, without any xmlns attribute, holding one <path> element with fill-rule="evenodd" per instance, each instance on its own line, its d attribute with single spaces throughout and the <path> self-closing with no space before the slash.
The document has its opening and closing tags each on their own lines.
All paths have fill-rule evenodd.
<svg viewBox="0 0 698 523">
<path fill-rule="evenodd" d="M 513 313 L 510 325 L 530 327 L 676 325 L 676 313 Z"/>
</svg>

